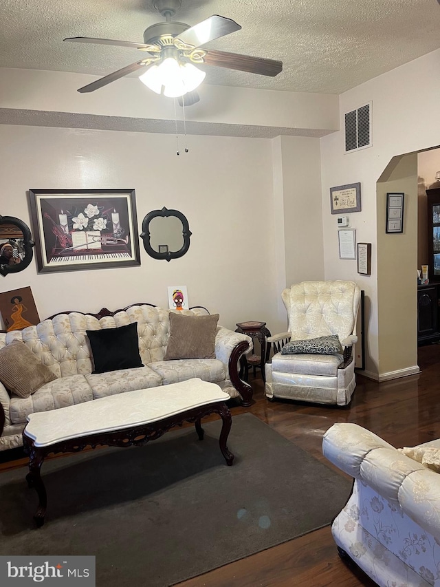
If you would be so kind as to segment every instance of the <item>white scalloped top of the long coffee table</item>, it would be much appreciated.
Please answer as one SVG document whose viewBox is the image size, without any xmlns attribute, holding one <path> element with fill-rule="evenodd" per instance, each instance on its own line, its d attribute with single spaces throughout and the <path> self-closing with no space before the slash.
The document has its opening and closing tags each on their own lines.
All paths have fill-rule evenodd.
<svg viewBox="0 0 440 587">
<path fill-rule="evenodd" d="M 29 414 L 25 435 L 36 447 L 164 420 L 202 405 L 227 401 L 215 383 L 194 378 Z"/>
</svg>

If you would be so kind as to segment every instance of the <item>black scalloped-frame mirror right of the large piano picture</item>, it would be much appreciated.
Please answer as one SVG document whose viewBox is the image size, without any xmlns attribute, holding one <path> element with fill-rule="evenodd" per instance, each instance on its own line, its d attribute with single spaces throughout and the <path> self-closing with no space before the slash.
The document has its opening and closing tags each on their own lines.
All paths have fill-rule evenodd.
<svg viewBox="0 0 440 587">
<path fill-rule="evenodd" d="M 190 227 L 178 210 L 153 210 L 142 221 L 140 237 L 144 249 L 153 259 L 178 259 L 190 247 Z"/>
</svg>

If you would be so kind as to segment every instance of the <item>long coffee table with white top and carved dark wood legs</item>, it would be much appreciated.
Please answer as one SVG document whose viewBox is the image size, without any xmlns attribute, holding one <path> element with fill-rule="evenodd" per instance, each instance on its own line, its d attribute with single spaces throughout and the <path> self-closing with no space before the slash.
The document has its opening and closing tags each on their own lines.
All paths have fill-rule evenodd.
<svg viewBox="0 0 440 587">
<path fill-rule="evenodd" d="M 201 418 L 219 414 L 223 420 L 220 450 L 226 464 L 232 465 L 234 455 L 226 445 L 232 424 L 225 404 L 228 399 L 230 396 L 218 385 L 194 378 L 30 414 L 23 430 L 23 445 L 29 455 L 26 480 L 39 496 L 36 525 L 42 526 L 45 519 L 47 494 L 40 471 L 50 453 L 79 452 L 98 445 L 143 446 L 185 421 L 195 423 L 203 440 Z"/>
</svg>

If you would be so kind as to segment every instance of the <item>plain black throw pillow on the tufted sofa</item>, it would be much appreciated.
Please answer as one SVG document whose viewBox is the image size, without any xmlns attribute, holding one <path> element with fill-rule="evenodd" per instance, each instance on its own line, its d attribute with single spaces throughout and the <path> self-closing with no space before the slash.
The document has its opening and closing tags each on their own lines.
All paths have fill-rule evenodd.
<svg viewBox="0 0 440 587">
<path fill-rule="evenodd" d="M 94 356 L 94 373 L 143 367 L 139 354 L 137 322 L 118 328 L 86 330 Z"/>
</svg>

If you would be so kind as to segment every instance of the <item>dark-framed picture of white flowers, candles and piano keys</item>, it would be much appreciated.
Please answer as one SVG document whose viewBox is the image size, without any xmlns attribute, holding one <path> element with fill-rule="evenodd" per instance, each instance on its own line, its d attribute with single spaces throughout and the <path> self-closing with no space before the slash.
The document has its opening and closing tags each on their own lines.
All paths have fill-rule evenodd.
<svg viewBox="0 0 440 587">
<path fill-rule="evenodd" d="M 134 189 L 30 189 L 39 273 L 140 265 Z"/>
</svg>

